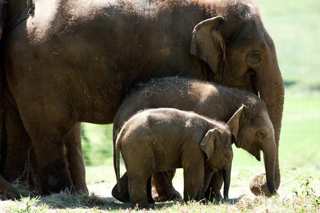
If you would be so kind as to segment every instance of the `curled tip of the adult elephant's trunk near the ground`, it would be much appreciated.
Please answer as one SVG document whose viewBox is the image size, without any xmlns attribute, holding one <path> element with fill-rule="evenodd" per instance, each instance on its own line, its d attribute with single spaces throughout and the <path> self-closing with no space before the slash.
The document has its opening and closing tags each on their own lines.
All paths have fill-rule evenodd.
<svg viewBox="0 0 320 213">
<path fill-rule="evenodd" d="M 266 184 L 265 174 L 257 174 L 250 181 L 250 191 L 255 196 L 271 196 Z"/>
</svg>

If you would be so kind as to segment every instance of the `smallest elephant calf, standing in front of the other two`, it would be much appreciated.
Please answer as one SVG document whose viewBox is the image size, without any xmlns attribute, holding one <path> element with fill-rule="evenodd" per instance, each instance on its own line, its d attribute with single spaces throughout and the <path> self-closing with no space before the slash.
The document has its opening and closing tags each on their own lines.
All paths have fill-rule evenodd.
<svg viewBox="0 0 320 213">
<path fill-rule="evenodd" d="M 115 150 L 118 191 L 121 151 L 132 208 L 150 203 L 146 192 L 153 173 L 175 168 L 183 168 L 185 202 L 204 199 L 214 169 L 223 171 L 223 194 L 228 196 L 233 154 L 230 129 L 224 123 L 172 108 L 149 109 L 123 125 Z"/>
</svg>

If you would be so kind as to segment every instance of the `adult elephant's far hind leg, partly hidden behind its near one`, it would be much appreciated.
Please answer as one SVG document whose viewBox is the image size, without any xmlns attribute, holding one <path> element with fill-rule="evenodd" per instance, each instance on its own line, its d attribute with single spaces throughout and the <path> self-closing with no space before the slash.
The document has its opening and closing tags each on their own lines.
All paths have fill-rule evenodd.
<svg viewBox="0 0 320 213">
<path fill-rule="evenodd" d="M 76 123 L 67 133 L 64 145 L 72 187 L 76 193 L 87 194 L 88 189 L 85 184 L 85 167 L 81 148 L 80 123 Z"/>
</svg>

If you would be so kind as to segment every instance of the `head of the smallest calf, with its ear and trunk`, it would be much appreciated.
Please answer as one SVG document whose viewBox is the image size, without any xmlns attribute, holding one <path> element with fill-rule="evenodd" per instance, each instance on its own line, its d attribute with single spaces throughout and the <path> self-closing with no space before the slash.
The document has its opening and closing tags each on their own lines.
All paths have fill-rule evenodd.
<svg viewBox="0 0 320 213">
<path fill-rule="evenodd" d="M 223 196 L 228 198 L 233 158 L 230 132 L 227 129 L 211 129 L 203 137 L 200 147 L 206 154 L 208 165 L 222 171 Z"/>
</svg>

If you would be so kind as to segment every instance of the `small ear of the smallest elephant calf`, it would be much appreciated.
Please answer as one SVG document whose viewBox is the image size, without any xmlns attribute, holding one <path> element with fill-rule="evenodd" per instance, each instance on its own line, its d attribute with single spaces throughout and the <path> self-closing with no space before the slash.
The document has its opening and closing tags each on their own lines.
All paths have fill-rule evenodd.
<svg viewBox="0 0 320 213">
<path fill-rule="evenodd" d="M 218 146 L 216 143 L 218 134 L 220 134 L 219 130 L 214 128 L 210 129 L 205 136 L 202 138 L 202 141 L 200 143 L 200 147 L 202 151 L 206 154 L 207 159 L 210 159 L 212 156 L 212 153 Z"/>
</svg>

